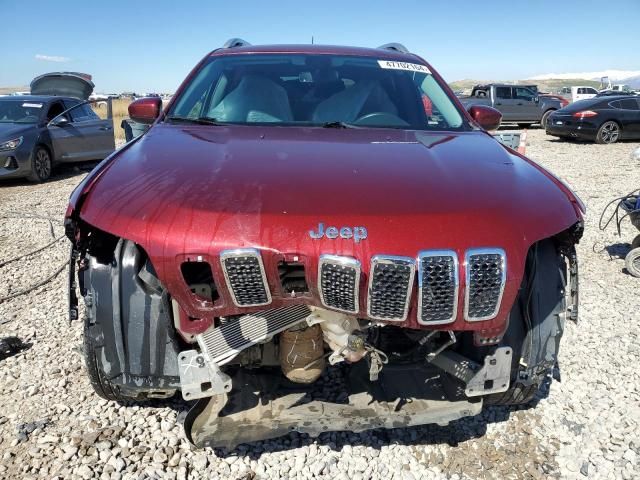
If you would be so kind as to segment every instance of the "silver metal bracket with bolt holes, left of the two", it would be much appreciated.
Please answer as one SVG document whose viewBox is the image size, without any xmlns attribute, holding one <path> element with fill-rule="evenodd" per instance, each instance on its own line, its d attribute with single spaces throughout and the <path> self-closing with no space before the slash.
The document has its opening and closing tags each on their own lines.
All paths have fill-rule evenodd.
<svg viewBox="0 0 640 480">
<path fill-rule="evenodd" d="M 196 400 L 231 391 L 231 378 L 214 362 L 207 362 L 197 350 L 185 350 L 178 356 L 182 398 Z"/>
</svg>

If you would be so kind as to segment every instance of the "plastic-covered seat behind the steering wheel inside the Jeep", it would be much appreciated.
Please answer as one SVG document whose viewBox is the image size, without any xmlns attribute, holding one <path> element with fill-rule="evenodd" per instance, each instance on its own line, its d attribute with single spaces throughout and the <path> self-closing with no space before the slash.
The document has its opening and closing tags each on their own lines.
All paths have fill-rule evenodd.
<svg viewBox="0 0 640 480">
<path fill-rule="evenodd" d="M 397 115 L 398 109 L 378 82 L 365 80 L 320 102 L 313 112 L 314 123 L 353 123 L 368 113 Z"/>
</svg>

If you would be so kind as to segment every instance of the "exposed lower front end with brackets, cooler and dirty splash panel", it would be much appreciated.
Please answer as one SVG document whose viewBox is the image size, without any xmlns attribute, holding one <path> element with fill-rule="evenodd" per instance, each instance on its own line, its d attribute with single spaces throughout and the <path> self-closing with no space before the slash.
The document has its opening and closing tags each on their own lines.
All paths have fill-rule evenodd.
<svg viewBox="0 0 640 480">
<path fill-rule="evenodd" d="M 260 334 L 243 337 L 251 331 Z M 198 446 L 231 448 L 293 430 L 315 436 L 444 425 L 479 413 L 478 397 L 510 383 L 508 346 L 478 364 L 446 350 L 454 332 L 409 330 L 303 305 L 230 319 L 196 340 L 199 349 L 181 352 L 179 364 L 183 398 L 202 399 L 185 424 Z M 343 364 L 333 375 L 344 377 L 337 397 L 305 388 Z M 444 382 L 446 390 L 443 372 L 455 379 Z"/>
</svg>

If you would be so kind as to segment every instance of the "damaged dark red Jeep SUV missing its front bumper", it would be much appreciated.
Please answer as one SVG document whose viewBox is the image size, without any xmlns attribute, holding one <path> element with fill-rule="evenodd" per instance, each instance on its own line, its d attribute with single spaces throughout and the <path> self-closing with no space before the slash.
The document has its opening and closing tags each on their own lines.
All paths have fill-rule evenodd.
<svg viewBox="0 0 640 480">
<path fill-rule="evenodd" d="M 530 401 L 577 315 L 584 206 L 402 45 L 207 55 L 73 192 L 70 314 L 111 400 L 186 433 L 446 424 Z"/>
</svg>

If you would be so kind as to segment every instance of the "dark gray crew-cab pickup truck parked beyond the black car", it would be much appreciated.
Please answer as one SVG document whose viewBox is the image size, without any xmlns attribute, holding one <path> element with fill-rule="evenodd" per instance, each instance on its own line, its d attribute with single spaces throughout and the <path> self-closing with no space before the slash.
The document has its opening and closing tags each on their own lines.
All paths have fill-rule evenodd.
<svg viewBox="0 0 640 480">
<path fill-rule="evenodd" d="M 551 112 L 562 108 L 557 98 L 538 96 L 527 86 L 492 83 L 476 85 L 468 97 L 460 101 L 469 108 L 488 105 L 502 113 L 502 123 L 517 123 L 524 127 L 533 123 L 544 125 Z"/>
</svg>

